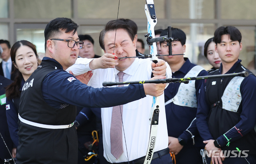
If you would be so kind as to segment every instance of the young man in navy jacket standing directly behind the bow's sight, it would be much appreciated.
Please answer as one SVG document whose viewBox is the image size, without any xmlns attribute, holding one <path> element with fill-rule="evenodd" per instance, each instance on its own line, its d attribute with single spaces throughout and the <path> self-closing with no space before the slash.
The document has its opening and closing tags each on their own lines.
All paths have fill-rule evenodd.
<svg viewBox="0 0 256 164">
<path fill-rule="evenodd" d="M 183 54 L 186 50 L 186 34 L 178 28 L 171 28 L 172 54 Z M 165 29 L 160 36 L 167 35 Z M 167 43 L 160 42 L 162 55 L 169 54 Z M 172 77 L 206 76 L 207 71 L 192 64 L 183 55 L 163 56 L 170 65 Z M 203 80 L 190 81 L 188 84 L 174 83 L 165 89 L 165 111 L 169 136 L 170 152 L 176 155 L 178 164 L 202 163 L 200 150 L 204 143 L 196 127 L 197 97 Z"/>
</svg>

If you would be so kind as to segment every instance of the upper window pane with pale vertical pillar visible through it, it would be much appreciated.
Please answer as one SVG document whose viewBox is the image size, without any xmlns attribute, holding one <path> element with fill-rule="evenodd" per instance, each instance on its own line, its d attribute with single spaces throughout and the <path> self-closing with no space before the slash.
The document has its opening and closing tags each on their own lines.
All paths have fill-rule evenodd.
<svg viewBox="0 0 256 164">
<path fill-rule="evenodd" d="M 214 0 L 171 0 L 173 19 L 214 19 Z"/>
</svg>

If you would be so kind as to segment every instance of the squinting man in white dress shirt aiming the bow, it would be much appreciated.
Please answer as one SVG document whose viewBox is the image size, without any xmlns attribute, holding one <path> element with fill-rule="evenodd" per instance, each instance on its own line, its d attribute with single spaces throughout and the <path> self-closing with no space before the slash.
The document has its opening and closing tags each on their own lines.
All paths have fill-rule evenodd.
<svg viewBox="0 0 256 164">
<path fill-rule="evenodd" d="M 116 29 L 117 28 L 117 29 Z M 100 33 L 100 46 L 105 53 L 114 53 L 118 58 L 136 56 L 136 44 L 132 29 L 123 21 L 110 21 Z M 123 72 L 123 81 L 149 80 L 151 73 L 154 76 L 171 78 L 169 65 L 160 60 L 154 64 L 150 59 L 123 58 L 117 59 L 115 68 L 97 69 L 88 85 L 101 88 L 104 81 L 119 81 L 118 73 Z M 152 64 L 153 63 L 153 64 Z M 154 70 L 152 70 L 154 69 Z M 113 101 L 115 98 L 113 97 Z M 149 145 L 150 125 L 149 114 L 152 105 L 152 96 L 121 105 L 122 111 L 122 151 L 117 157 L 111 152 L 111 121 L 112 109 L 102 108 L 102 128 L 104 157 L 110 163 L 143 163 Z M 120 110 L 119 110 L 120 113 Z M 168 134 L 165 116 L 164 95 L 160 96 L 159 124 L 154 148 L 154 163 L 172 163 L 168 149 Z M 155 159 L 154 159 L 155 158 Z"/>
</svg>

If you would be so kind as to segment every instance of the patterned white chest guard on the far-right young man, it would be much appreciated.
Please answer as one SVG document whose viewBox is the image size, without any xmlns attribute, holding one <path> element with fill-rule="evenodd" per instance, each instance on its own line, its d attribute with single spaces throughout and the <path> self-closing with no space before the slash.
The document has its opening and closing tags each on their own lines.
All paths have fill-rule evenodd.
<svg viewBox="0 0 256 164">
<path fill-rule="evenodd" d="M 222 95 L 222 109 L 237 112 L 242 101 L 240 86 L 244 77 L 236 76 L 226 86 Z"/>
</svg>

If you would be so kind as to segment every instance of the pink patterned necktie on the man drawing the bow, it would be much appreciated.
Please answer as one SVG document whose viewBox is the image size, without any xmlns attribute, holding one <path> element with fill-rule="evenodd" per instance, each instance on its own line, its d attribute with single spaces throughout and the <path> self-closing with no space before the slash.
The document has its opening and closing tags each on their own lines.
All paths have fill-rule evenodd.
<svg viewBox="0 0 256 164">
<path fill-rule="evenodd" d="M 123 82 L 124 72 L 117 73 L 119 77 L 119 82 Z M 118 87 L 123 87 L 124 85 L 118 85 Z M 113 106 L 112 109 L 112 119 L 110 127 L 110 143 L 111 143 L 111 154 L 116 158 L 123 154 L 123 131 L 122 131 L 122 115 L 123 115 L 123 105 Z"/>
</svg>

